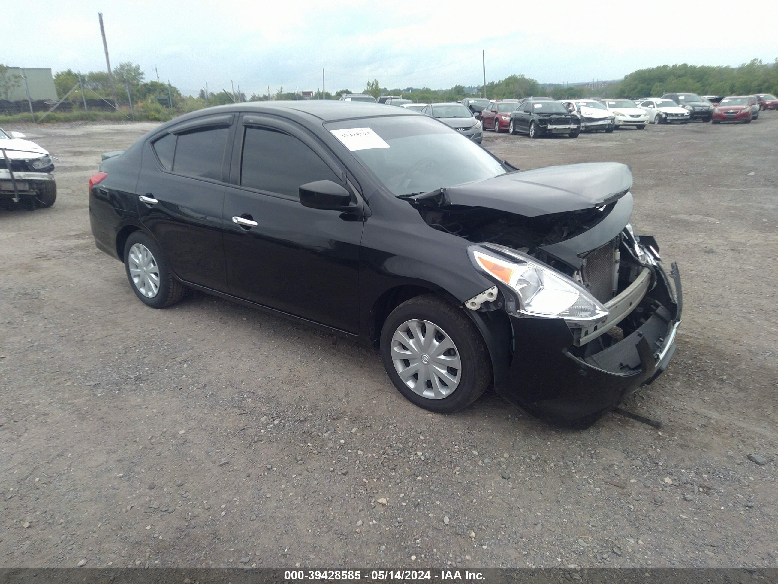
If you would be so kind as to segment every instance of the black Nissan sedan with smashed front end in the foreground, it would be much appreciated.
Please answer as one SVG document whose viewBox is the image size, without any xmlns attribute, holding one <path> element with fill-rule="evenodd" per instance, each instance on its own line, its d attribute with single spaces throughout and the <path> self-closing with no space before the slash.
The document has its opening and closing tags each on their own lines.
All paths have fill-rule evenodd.
<svg viewBox="0 0 778 584">
<path fill-rule="evenodd" d="M 428 410 L 493 386 L 587 427 L 664 371 L 681 318 L 631 185 L 615 163 L 517 171 L 405 108 L 258 102 L 107 157 L 89 219 L 149 307 L 202 290 L 377 347 Z"/>
</svg>

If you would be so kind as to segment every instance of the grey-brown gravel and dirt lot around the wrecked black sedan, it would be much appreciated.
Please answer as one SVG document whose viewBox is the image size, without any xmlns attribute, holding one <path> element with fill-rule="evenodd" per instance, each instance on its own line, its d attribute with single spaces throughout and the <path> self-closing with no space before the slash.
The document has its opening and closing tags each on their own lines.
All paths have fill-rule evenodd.
<svg viewBox="0 0 778 584">
<path fill-rule="evenodd" d="M 146 308 L 86 183 L 152 127 L 5 128 L 61 160 L 54 207 L 0 212 L 0 567 L 778 564 L 778 112 L 486 135 L 521 168 L 633 167 L 684 284 L 675 359 L 626 404 L 661 431 L 560 431 L 493 392 L 433 415 L 349 341 L 203 294 Z"/>
</svg>

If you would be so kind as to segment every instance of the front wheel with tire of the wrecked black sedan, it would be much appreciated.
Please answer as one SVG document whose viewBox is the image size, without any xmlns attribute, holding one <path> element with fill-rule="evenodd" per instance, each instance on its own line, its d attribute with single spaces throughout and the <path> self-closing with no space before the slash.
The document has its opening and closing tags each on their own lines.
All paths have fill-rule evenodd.
<svg viewBox="0 0 778 584">
<path fill-rule="evenodd" d="M 462 308 L 424 294 L 391 311 L 380 339 L 381 360 L 409 401 L 433 412 L 469 406 L 492 385 L 489 351 Z"/>
</svg>

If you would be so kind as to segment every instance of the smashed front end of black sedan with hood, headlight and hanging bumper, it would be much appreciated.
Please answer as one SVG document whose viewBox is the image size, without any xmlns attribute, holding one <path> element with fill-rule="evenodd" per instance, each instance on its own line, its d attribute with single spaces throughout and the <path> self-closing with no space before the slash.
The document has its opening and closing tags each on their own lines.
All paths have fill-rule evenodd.
<svg viewBox="0 0 778 584">
<path fill-rule="evenodd" d="M 430 227 L 471 241 L 473 266 L 495 283 L 464 306 L 510 318 L 512 359 L 496 391 L 542 420 L 584 428 L 667 367 L 681 283 L 675 264 L 669 277 L 662 269 L 654 238 L 633 233 L 626 167 L 555 168 L 566 175 L 563 185 L 526 171 L 506 175 L 513 197 L 505 183 L 482 197 L 475 183 L 412 203 Z M 551 213 L 542 213 L 538 191 Z M 466 204 L 484 199 L 499 208 Z M 574 208 L 561 210 L 566 204 Z"/>
</svg>

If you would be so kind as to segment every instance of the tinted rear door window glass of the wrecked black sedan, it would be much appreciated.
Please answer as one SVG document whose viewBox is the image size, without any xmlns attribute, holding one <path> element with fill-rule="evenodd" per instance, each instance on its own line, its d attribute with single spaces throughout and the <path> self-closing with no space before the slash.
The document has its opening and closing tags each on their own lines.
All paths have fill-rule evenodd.
<svg viewBox="0 0 778 584">
<path fill-rule="evenodd" d="M 224 148 L 230 128 L 209 128 L 180 134 L 173 171 L 191 177 L 222 180 Z"/>
</svg>

